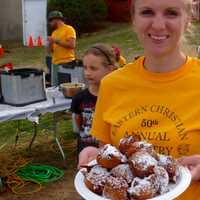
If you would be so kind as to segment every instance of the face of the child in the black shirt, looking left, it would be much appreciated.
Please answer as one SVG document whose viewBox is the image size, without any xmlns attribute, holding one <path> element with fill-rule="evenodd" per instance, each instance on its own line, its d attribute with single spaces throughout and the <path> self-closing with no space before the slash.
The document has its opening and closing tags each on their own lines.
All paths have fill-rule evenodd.
<svg viewBox="0 0 200 200">
<path fill-rule="evenodd" d="M 112 70 L 112 66 L 104 66 L 103 58 L 95 56 L 93 54 L 85 55 L 83 58 L 84 76 L 88 84 L 99 85 L 101 79 L 109 74 Z"/>
</svg>

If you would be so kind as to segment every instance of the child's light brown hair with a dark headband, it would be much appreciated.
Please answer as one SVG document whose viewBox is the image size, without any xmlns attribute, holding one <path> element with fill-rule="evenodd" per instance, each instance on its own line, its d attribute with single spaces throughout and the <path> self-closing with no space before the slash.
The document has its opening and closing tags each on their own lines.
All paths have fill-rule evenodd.
<svg viewBox="0 0 200 200">
<path fill-rule="evenodd" d="M 112 65 L 113 67 L 116 66 L 116 55 L 114 49 L 108 45 L 103 43 L 98 43 L 91 46 L 85 53 L 84 56 L 92 54 L 97 57 L 102 58 L 102 63 L 105 67 Z"/>
</svg>

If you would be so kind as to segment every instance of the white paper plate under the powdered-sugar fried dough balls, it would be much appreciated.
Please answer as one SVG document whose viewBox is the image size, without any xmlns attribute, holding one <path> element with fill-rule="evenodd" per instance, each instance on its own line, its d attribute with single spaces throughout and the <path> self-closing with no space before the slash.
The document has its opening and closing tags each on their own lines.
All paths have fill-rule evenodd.
<svg viewBox="0 0 200 200">
<path fill-rule="evenodd" d="M 90 165 L 95 164 L 96 161 L 92 161 Z M 151 200 L 172 200 L 176 197 L 180 196 L 190 185 L 191 182 L 191 173 L 186 167 L 180 167 L 179 169 L 180 175 L 177 178 L 176 184 L 170 184 L 169 185 L 169 192 L 159 195 L 157 197 L 152 198 Z M 85 200 L 108 200 L 106 198 L 103 198 L 102 196 L 99 196 L 92 191 L 90 191 L 85 183 L 84 183 L 84 176 L 79 171 L 76 174 L 74 185 L 77 190 L 77 192 L 85 199 Z"/>
</svg>

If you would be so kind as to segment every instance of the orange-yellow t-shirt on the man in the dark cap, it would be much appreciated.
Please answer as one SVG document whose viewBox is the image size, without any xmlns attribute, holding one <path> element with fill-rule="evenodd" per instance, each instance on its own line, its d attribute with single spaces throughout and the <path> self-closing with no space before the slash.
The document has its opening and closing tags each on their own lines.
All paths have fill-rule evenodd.
<svg viewBox="0 0 200 200">
<path fill-rule="evenodd" d="M 76 38 L 76 32 L 72 26 L 64 24 L 52 33 L 52 37 L 60 40 L 61 42 L 66 42 L 70 38 Z M 53 64 L 67 63 L 75 59 L 74 49 L 66 49 L 60 45 L 53 44 L 52 50 Z"/>
</svg>

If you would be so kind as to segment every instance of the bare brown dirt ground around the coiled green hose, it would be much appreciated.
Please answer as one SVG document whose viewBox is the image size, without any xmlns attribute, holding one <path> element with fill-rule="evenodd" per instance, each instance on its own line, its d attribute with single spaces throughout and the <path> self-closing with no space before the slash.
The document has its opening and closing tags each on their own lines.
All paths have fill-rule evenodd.
<svg viewBox="0 0 200 200">
<path fill-rule="evenodd" d="M 6 152 L 6 154 L 2 152 L 0 154 L 0 163 L 2 165 L 3 159 L 1 157 L 3 158 L 3 155 L 6 155 L 8 160 L 17 162 L 15 160 L 15 158 L 18 159 L 17 154 L 25 160 L 31 160 L 32 163 L 48 164 L 58 167 L 64 170 L 65 175 L 61 180 L 45 185 L 39 192 L 30 195 L 16 195 L 10 190 L 7 190 L 0 194 L 0 200 L 79 200 L 80 196 L 75 191 L 73 183 L 77 165 L 76 143 L 75 141 L 68 141 L 62 145 L 67 155 L 65 163 L 53 142 L 44 142 L 42 144 L 40 142 L 40 144 L 34 145 L 31 154 L 27 153 L 24 148 L 18 148 L 15 153 L 13 153 L 14 151 L 11 151 L 12 153 Z"/>
</svg>

